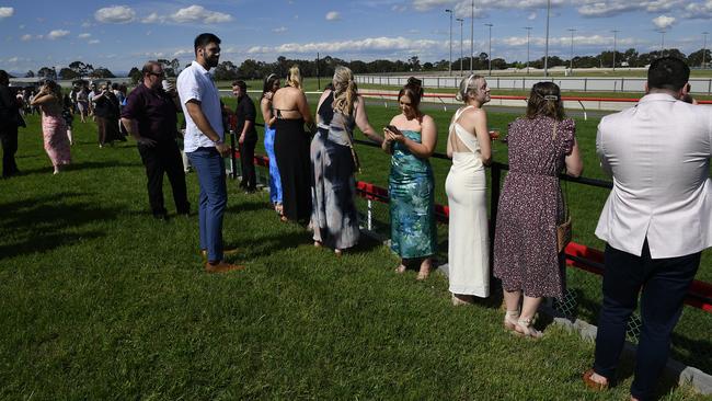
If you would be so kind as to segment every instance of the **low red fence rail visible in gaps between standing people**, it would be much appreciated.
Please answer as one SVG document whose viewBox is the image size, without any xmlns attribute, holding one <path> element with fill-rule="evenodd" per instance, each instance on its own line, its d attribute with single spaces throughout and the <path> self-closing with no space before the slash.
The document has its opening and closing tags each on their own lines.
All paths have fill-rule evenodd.
<svg viewBox="0 0 712 401">
<path fill-rule="evenodd" d="M 240 153 L 236 150 L 234 156 L 239 158 Z M 269 159 L 265 156 L 255 154 L 254 163 L 269 168 Z M 388 190 L 375 184 L 357 181 L 356 192 L 358 193 L 358 196 L 366 199 L 388 203 Z M 450 209 L 447 206 L 435 205 L 435 217 L 438 221 L 448 224 L 449 216 Z M 604 264 L 604 253 L 601 251 L 571 242 L 566 245 L 565 254 L 567 266 L 576 267 L 599 276 L 604 274 L 604 270 L 598 267 Z M 712 313 L 712 284 L 693 280 L 692 286 L 685 298 L 685 303 Z"/>
</svg>

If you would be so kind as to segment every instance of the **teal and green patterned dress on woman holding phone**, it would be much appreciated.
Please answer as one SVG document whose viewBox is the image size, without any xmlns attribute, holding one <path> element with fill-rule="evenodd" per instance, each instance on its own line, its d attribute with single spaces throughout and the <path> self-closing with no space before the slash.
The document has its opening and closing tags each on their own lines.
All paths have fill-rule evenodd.
<svg viewBox="0 0 712 401">
<path fill-rule="evenodd" d="M 402 133 L 409 139 L 421 142 L 421 133 Z M 394 142 L 388 179 L 391 250 L 402 259 L 427 257 L 436 252 L 434 186 L 428 160 L 411 153 L 403 144 Z"/>
</svg>

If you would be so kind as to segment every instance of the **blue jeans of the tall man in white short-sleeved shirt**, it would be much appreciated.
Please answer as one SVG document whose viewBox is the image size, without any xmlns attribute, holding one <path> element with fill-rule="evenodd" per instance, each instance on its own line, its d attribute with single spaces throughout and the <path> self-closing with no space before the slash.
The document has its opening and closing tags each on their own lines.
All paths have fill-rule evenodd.
<svg viewBox="0 0 712 401">
<path fill-rule="evenodd" d="M 200 183 L 200 249 L 208 251 L 209 262 L 219 262 L 222 260 L 222 215 L 228 205 L 225 160 L 215 148 L 198 148 L 186 154 Z"/>
</svg>

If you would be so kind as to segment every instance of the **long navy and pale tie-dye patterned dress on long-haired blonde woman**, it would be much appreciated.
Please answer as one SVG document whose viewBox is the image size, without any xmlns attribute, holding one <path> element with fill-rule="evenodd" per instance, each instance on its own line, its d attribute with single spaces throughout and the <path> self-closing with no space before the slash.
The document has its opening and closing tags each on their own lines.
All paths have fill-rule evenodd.
<svg viewBox="0 0 712 401">
<path fill-rule="evenodd" d="M 334 92 L 319 107 L 319 129 L 311 141 L 314 185 L 311 192 L 311 222 L 314 241 L 333 249 L 358 243 L 356 181 L 348 144 L 356 126 L 354 116 L 334 112 Z"/>
</svg>

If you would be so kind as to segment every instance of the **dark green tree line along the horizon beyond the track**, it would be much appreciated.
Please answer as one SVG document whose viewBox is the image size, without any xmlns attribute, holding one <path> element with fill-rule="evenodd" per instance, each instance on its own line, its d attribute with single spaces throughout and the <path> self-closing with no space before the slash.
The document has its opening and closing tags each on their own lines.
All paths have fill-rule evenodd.
<svg viewBox="0 0 712 401">
<path fill-rule="evenodd" d="M 712 51 L 710 49 L 699 49 L 697 51 L 685 55 L 677 48 L 668 48 L 657 51 L 643 53 L 640 54 L 634 48 L 629 48 L 624 51 L 613 51 L 606 50 L 601 51 L 596 56 L 575 56 L 572 59 L 563 59 L 559 56 L 550 56 L 548 59 L 548 67 L 569 67 L 573 64 L 574 68 L 610 68 L 610 67 L 645 67 L 651 64 L 657 57 L 661 56 L 674 56 L 678 57 L 685 61 L 690 67 L 700 67 L 704 61 L 704 67 L 710 66 L 712 58 Z M 169 78 L 177 77 L 181 72 L 181 62 L 177 58 L 169 59 L 158 59 L 163 66 L 165 76 Z M 613 61 L 616 65 L 613 66 Z M 460 66 L 463 70 L 470 70 L 470 68 L 475 70 L 504 70 L 508 68 L 525 68 L 527 67 L 526 60 L 515 60 L 507 61 L 503 58 L 493 58 L 490 60 L 490 56 L 486 53 L 480 53 L 472 59 L 472 66 L 470 66 L 470 57 L 464 57 L 462 59 L 458 58 L 452 60 L 452 70 L 459 71 Z M 271 73 L 276 73 L 279 77 L 286 77 L 289 68 L 291 66 L 299 66 L 303 77 L 330 77 L 334 73 L 334 69 L 337 66 L 346 66 L 354 71 L 354 73 L 398 73 L 398 72 L 435 72 L 435 71 L 447 71 L 449 66 L 448 60 L 439 60 L 435 62 L 426 61 L 421 62 L 417 56 L 413 56 L 407 60 L 389 60 L 389 59 L 377 59 L 374 61 L 361 61 L 361 60 L 343 60 L 336 57 L 325 56 L 323 58 L 315 59 L 289 59 L 284 56 L 277 57 L 277 60 L 274 62 L 259 61 L 254 59 L 246 59 L 242 61 L 239 66 L 234 62 L 225 60 L 220 62 L 214 70 L 215 79 L 219 81 L 229 81 L 236 79 L 262 79 Z M 529 60 L 529 67 L 531 68 L 543 68 L 544 58 L 538 58 Z M 190 66 L 185 65 L 184 68 Z M 57 71 L 55 68 L 42 67 L 37 72 L 32 70 L 27 71 L 25 78 L 49 78 L 49 79 L 78 79 L 78 78 L 115 78 L 114 73 L 105 67 L 94 68 L 91 64 L 85 64 L 82 61 L 72 61 L 69 66 L 60 68 Z M 128 77 L 131 78 L 134 83 L 138 82 L 141 79 L 141 69 L 139 67 L 134 67 L 128 73 Z"/>
</svg>

